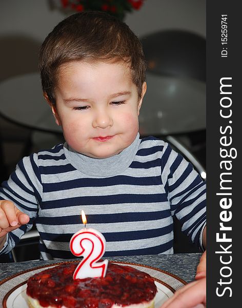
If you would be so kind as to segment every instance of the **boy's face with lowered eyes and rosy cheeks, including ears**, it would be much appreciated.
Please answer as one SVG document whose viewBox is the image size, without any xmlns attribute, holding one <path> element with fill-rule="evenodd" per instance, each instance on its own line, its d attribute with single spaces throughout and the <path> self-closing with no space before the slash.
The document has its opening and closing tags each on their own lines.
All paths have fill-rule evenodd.
<svg viewBox="0 0 242 308">
<path fill-rule="evenodd" d="M 143 85 L 143 96 L 146 84 Z M 137 88 L 124 63 L 68 63 L 59 69 L 52 106 L 67 143 L 93 158 L 108 158 L 128 147 L 138 132 Z"/>
</svg>

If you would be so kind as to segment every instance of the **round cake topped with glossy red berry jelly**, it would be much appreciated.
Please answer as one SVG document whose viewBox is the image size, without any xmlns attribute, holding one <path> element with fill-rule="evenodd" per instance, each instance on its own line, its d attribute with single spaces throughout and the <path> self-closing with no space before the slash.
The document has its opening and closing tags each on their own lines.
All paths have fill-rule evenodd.
<svg viewBox="0 0 242 308">
<path fill-rule="evenodd" d="M 29 307 L 154 307 L 157 288 L 149 274 L 109 262 L 104 278 L 73 279 L 75 268 L 76 263 L 64 263 L 30 277 Z"/>
</svg>

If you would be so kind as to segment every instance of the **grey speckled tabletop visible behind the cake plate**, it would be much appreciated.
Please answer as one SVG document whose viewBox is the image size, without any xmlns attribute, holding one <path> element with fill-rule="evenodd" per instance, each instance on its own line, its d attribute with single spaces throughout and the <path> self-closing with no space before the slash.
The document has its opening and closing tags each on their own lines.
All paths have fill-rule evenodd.
<svg viewBox="0 0 242 308">
<path fill-rule="evenodd" d="M 123 261 L 149 265 L 163 269 L 164 271 L 170 272 L 181 279 L 190 282 L 194 280 L 196 273 L 196 267 L 199 263 L 201 253 L 193 254 L 173 254 L 173 255 L 148 255 L 148 256 L 122 256 L 122 257 L 108 257 L 108 260 Z M 73 261 L 65 260 L 65 261 Z M 17 263 L 0 263 L 0 281 L 25 271 L 36 266 L 53 264 L 58 261 L 26 261 Z M 63 262 L 63 260 L 59 260 Z"/>
</svg>

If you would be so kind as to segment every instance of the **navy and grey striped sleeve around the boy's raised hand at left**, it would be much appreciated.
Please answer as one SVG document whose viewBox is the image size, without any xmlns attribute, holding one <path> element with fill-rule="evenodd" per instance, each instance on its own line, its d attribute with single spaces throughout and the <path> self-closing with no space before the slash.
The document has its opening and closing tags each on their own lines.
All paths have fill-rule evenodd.
<svg viewBox="0 0 242 308">
<path fill-rule="evenodd" d="M 32 228 L 37 216 L 38 205 L 42 200 L 42 183 L 37 165 L 37 155 L 25 157 L 21 160 L 8 181 L 0 187 L 0 200 L 12 201 L 19 210 L 30 217 L 28 224 L 23 225 L 7 237 L 1 253 L 8 253 L 19 239 Z"/>
</svg>

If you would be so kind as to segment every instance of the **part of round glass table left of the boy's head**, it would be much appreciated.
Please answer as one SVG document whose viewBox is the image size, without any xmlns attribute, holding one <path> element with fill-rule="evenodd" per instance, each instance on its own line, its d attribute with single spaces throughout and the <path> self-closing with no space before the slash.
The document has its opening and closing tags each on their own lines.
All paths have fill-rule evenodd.
<svg viewBox="0 0 242 308">
<path fill-rule="evenodd" d="M 28 128 L 61 132 L 45 101 L 38 73 L 9 78 L 0 84 L 0 114 L 7 120 Z"/>
</svg>

